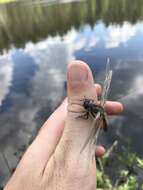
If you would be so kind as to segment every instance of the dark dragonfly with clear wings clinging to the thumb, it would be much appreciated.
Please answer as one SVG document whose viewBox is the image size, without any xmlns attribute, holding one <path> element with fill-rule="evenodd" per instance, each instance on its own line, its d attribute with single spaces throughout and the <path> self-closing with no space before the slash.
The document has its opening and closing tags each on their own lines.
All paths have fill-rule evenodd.
<svg viewBox="0 0 143 190">
<path fill-rule="evenodd" d="M 110 59 L 108 58 L 106 64 L 105 80 L 103 84 L 103 91 L 100 102 L 97 103 L 97 101 L 87 98 L 85 98 L 83 101 L 83 107 L 86 111 L 84 117 L 88 119 L 89 115 L 91 115 L 93 117 L 93 123 L 91 131 L 88 135 L 88 138 L 82 150 L 84 150 L 84 148 L 89 142 L 94 145 L 97 144 L 97 139 L 101 128 L 103 128 L 104 131 L 107 131 L 108 126 L 107 126 L 107 114 L 105 112 L 105 103 L 109 94 L 111 80 L 112 80 L 112 70 L 110 69 Z"/>
</svg>

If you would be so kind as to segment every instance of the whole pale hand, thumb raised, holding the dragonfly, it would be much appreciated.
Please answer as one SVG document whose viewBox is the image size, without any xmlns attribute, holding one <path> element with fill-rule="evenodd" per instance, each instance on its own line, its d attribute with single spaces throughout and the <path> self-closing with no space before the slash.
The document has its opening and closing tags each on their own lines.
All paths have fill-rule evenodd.
<svg viewBox="0 0 143 190">
<path fill-rule="evenodd" d="M 91 129 L 92 119 L 77 119 L 83 106 L 81 99 L 97 98 L 101 87 L 94 85 L 86 63 L 74 61 L 68 66 L 68 90 L 62 105 L 45 122 L 28 147 L 4 190 L 95 190 L 96 156 L 102 146 L 81 149 Z M 122 112 L 118 102 L 107 102 L 108 114 Z"/>
</svg>

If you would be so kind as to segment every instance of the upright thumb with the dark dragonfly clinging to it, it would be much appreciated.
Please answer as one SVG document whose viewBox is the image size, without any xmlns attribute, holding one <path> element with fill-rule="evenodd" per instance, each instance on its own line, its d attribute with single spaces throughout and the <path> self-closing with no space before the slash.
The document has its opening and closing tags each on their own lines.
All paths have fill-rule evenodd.
<svg viewBox="0 0 143 190">
<path fill-rule="evenodd" d="M 61 139 L 64 150 L 68 155 L 79 155 L 92 127 L 92 119 L 79 117 L 84 115 L 83 100 L 96 99 L 97 93 L 94 86 L 92 73 L 87 64 L 74 61 L 68 67 L 68 114 L 66 125 Z M 87 151 L 89 152 L 87 146 Z M 87 153 L 86 151 L 86 153 Z M 65 154 L 64 152 L 64 154 Z M 84 154 L 87 155 L 84 151 Z M 93 153 L 93 155 L 95 152 Z M 89 156 L 89 155 L 88 155 Z"/>
</svg>

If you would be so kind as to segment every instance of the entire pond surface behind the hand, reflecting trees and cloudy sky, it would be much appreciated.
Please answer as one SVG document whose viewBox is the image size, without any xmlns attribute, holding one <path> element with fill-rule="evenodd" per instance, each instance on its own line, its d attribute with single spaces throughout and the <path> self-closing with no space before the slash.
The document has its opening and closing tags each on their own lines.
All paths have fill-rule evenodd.
<svg viewBox="0 0 143 190">
<path fill-rule="evenodd" d="M 109 99 L 120 100 L 125 109 L 111 118 L 103 141 L 130 143 L 143 157 L 143 2 L 0 5 L 1 184 L 18 162 L 17 149 L 31 141 L 66 96 L 68 63 L 85 61 L 102 84 L 108 57 L 113 69 Z"/>
</svg>

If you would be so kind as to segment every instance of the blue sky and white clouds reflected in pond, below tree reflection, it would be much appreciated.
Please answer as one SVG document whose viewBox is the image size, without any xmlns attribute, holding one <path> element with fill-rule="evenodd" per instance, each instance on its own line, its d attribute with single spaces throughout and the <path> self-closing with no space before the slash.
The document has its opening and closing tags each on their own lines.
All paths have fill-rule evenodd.
<svg viewBox="0 0 143 190">
<path fill-rule="evenodd" d="M 105 25 L 101 20 L 91 26 L 71 27 L 64 35 L 48 35 L 24 47 L 14 44 L 0 56 L 0 150 L 14 168 L 14 152 L 28 144 L 33 133 L 66 96 L 66 67 L 73 59 L 89 64 L 97 82 L 104 80 L 107 57 L 113 68 L 109 99 L 123 102 L 122 116 L 110 120 L 108 137 L 127 143 L 143 156 L 140 149 L 143 123 L 143 22 Z M 2 155 L 0 162 L 3 163 Z M 0 165 L 0 181 L 9 176 Z M 2 176 L 2 177 L 1 177 Z"/>
</svg>

